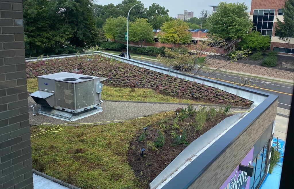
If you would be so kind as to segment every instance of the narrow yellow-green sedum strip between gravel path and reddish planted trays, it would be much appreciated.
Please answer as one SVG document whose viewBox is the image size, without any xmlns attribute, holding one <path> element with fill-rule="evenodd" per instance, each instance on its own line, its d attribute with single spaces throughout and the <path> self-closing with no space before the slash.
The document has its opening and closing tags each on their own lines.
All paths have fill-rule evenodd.
<svg viewBox="0 0 294 189">
<path fill-rule="evenodd" d="M 37 79 L 27 79 L 28 92 L 38 90 Z M 176 103 L 199 103 L 189 99 L 178 99 L 160 94 L 152 89 L 136 88 L 132 90 L 129 87 L 112 87 L 103 85 L 103 100 L 128 100 L 128 101 L 147 101 L 147 102 L 176 102 Z"/>
</svg>

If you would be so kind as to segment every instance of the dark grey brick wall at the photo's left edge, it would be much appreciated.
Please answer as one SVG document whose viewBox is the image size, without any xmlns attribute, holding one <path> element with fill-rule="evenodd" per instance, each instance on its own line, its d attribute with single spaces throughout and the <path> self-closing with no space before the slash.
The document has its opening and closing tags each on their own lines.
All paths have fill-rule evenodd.
<svg viewBox="0 0 294 189">
<path fill-rule="evenodd" d="M 21 2 L 0 1 L 0 189 L 33 188 Z"/>
</svg>

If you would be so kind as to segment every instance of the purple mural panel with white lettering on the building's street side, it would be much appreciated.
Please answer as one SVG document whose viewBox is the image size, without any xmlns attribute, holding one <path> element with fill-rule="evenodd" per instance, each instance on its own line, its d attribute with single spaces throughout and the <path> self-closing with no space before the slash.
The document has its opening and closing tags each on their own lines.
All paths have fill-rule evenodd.
<svg viewBox="0 0 294 189">
<path fill-rule="evenodd" d="M 254 147 L 253 147 L 254 148 Z M 253 148 L 241 161 L 242 165 L 251 165 L 253 159 Z M 230 174 L 230 176 L 225 180 L 220 189 L 249 189 L 250 178 L 244 171 L 238 171 L 239 166 Z"/>
</svg>

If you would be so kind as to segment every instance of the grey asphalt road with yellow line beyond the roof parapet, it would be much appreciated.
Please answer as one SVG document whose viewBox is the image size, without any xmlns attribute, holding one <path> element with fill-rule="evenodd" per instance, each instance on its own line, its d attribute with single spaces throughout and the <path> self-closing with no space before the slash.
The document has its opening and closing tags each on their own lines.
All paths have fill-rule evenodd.
<svg viewBox="0 0 294 189">
<path fill-rule="evenodd" d="M 156 61 L 151 61 L 151 60 L 142 60 L 142 59 L 136 59 L 132 58 L 135 60 L 140 60 L 142 62 L 150 63 L 153 65 L 158 65 L 158 66 L 163 66 L 167 67 L 163 64 L 160 64 Z M 207 77 L 209 74 L 207 72 L 201 72 L 202 76 Z M 209 76 L 210 78 L 220 78 L 220 80 L 225 81 L 225 82 L 240 82 L 240 78 L 237 75 L 231 75 L 231 74 L 223 74 L 221 72 L 216 72 L 214 75 Z M 250 77 L 244 77 L 250 79 Z M 259 88 L 253 87 L 253 85 L 257 85 Z M 251 87 L 250 87 L 251 86 Z M 267 81 L 267 80 L 257 80 L 250 84 L 249 86 L 245 86 L 251 89 L 258 90 L 258 91 L 263 91 L 263 92 L 268 92 L 271 94 L 275 94 L 279 96 L 279 102 L 278 102 L 278 107 L 284 108 L 284 109 L 290 109 L 291 107 L 291 99 L 293 95 L 293 85 L 290 84 L 284 84 L 280 82 L 273 82 L 273 81 Z"/>
</svg>

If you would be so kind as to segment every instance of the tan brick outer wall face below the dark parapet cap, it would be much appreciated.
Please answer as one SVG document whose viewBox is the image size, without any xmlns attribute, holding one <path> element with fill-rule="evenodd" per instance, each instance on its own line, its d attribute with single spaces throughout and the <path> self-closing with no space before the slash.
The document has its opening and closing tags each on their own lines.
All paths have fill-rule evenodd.
<svg viewBox="0 0 294 189">
<path fill-rule="evenodd" d="M 256 119 L 255 122 L 240 135 L 189 188 L 219 188 L 247 155 L 263 132 L 275 120 L 277 106 L 278 100 L 263 112 L 263 114 L 261 114 L 260 117 Z"/>
</svg>

